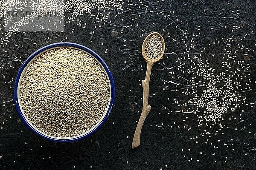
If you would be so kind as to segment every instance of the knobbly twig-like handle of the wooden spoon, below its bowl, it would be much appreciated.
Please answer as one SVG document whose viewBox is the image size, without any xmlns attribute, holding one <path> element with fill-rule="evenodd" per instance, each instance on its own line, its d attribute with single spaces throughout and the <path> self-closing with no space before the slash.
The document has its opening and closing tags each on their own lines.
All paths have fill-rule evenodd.
<svg viewBox="0 0 256 170">
<path fill-rule="evenodd" d="M 154 62 L 147 62 L 147 72 L 145 80 L 142 80 L 142 86 L 143 86 L 143 108 L 140 115 L 139 122 L 137 124 L 135 133 L 134 133 L 134 139 L 132 141 L 132 148 L 136 148 L 140 145 L 140 133 L 142 125 L 148 116 L 148 113 L 151 109 L 151 106 L 148 105 L 148 89 L 149 89 L 149 80 L 150 80 L 150 74 L 151 74 L 151 68 L 153 66 Z"/>
</svg>

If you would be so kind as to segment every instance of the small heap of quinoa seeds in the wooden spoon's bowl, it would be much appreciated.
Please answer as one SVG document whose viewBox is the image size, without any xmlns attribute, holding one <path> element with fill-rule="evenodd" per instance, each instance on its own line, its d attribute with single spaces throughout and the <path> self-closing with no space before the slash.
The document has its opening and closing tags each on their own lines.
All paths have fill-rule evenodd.
<svg viewBox="0 0 256 170">
<path fill-rule="evenodd" d="M 145 54 L 148 58 L 155 59 L 163 52 L 163 42 L 158 35 L 152 35 L 145 44 Z"/>
</svg>

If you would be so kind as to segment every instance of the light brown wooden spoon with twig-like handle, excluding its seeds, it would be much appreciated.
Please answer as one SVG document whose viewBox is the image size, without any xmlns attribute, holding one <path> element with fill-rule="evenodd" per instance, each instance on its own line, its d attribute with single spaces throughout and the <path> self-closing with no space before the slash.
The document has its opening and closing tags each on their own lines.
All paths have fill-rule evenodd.
<svg viewBox="0 0 256 170">
<path fill-rule="evenodd" d="M 155 59 L 151 59 L 151 58 L 148 58 L 146 53 L 145 53 L 145 45 L 148 41 L 148 39 L 152 36 L 152 35 L 157 35 L 161 38 L 162 40 L 162 53 L 160 54 L 159 57 L 155 58 Z M 142 56 L 143 58 L 146 60 L 147 62 L 147 72 L 146 72 L 146 77 L 145 77 L 145 80 L 142 80 L 142 86 L 143 86 L 143 108 L 142 108 L 142 112 L 141 112 L 141 115 L 140 115 L 140 120 L 137 124 L 137 127 L 136 127 L 136 130 L 135 130 L 135 133 L 134 133 L 134 139 L 132 141 L 132 148 L 136 148 L 140 145 L 140 133 L 141 133 L 141 128 L 142 128 L 142 125 L 146 119 L 146 117 L 148 116 L 148 113 L 151 109 L 151 106 L 148 105 L 148 89 L 149 89 L 149 80 L 150 80 L 150 74 L 151 74 L 151 68 L 152 66 L 154 65 L 155 62 L 159 61 L 162 57 L 163 57 L 163 54 L 164 54 L 164 50 L 165 50 L 165 43 L 164 43 L 164 40 L 163 40 L 163 37 L 157 33 L 157 32 L 153 32 L 151 34 L 148 35 L 148 37 L 145 38 L 144 42 L 143 42 L 143 45 L 142 45 Z"/>
</svg>

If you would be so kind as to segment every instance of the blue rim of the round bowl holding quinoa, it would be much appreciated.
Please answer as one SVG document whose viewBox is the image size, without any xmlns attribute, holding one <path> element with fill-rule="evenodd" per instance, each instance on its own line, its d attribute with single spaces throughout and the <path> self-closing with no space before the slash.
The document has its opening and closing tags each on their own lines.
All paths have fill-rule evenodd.
<svg viewBox="0 0 256 170">
<path fill-rule="evenodd" d="M 106 112 L 106 114 L 105 114 L 104 118 L 102 119 L 102 121 L 96 127 L 94 127 L 93 130 L 89 131 L 88 133 L 85 133 L 84 135 L 78 136 L 78 137 L 75 136 L 76 138 L 72 138 L 72 139 L 56 139 L 53 136 L 49 137 L 49 136 L 46 136 L 46 135 L 40 133 L 36 128 L 32 127 L 30 125 L 30 123 L 26 120 L 24 114 L 21 111 L 19 100 L 18 100 L 18 85 L 19 85 L 19 81 L 20 81 L 20 78 L 21 78 L 21 75 L 22 75 L 24 69 L 29 64 L 29 62 L 34 57 L 36 57 L 38 54 L 41 54 L 42 52 L 44 52 L 46 50 L 49 50 L 50 48 L 58 48 L 58 47 L 60 47 L 60 48 L 61 47 L 78 48 L 78 49 L 81 49 L 82 51 L 86 51 L 87 53 L 91 54 L 96 60 L 98 60 L 98 62 L 105 69 L 105 71 L 106 71 L 106 73 L 108 75 L 108 79 L 110 81 L 110 86 L 111 86 L 110 104 L 108 105 L 108 111 Z M 23 65 L 19 68 L 18 73 L 17 73 L 17 77 L 15 79 L 14 101 L 15 101 L 15 107 L 16 107 L 18 115 L 20 116 L 20 119 L 26 125 L 26 127 L 28 127 L 29 130 L 31 130 L 33 133 L 35 133 L 38 136 L 43 137 L 44 139 L 47 139 L 47 140 L 53 141 L 53 142 L 63 142 L 63 143 L 65 143 L 65 142 L 76 142 L 76 141 L 79 141 L 81 139 L 87 138 L 88 136 L 91 136 L 93 133 L 95 133 L 97 130 L 99 130 L 99 128 L 102 127 L 102 125 L 105 124 L 106 120 L 108 119 L 109 113 L 111 112 L 111 109 L 113 107 L 114 98 L 115 98 L 115 83 L 114 83 L 114 79 L 113 79 L 112 73 L 111 73 L 111 71 L 108 68 L 108 65 L 104 62 L 104 60 L 98 54 L 96 54 L 90 48 L 87 48 L 87 47 L 85 47 L 83 45 L 76 44 L 76 43 L 73 43 L 73 42 L 58 42 L 58 43 L 50 44 L 50 45 L 44 46 L 43 48 L 38 49 L 33 54 L 31 54 L 26 59 L 26 61 L 23 63 Z"/>
</svg>

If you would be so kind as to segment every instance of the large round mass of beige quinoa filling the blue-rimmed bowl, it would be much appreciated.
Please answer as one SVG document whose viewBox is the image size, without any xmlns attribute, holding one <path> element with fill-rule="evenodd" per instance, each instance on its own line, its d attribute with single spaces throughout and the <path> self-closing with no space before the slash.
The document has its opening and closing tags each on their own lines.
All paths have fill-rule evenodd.
<svg viewBox="0 0 256 170">
<path fill-rule="evenodd" d="M 20 82 L 20 106 L 38 130 L 78 136 L 102 118 L 110 85 L 102 66 L 74 48 L 51 49 L 30 63 Z"/>
</svg>

